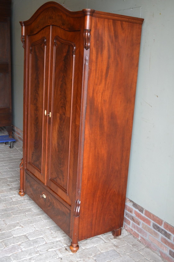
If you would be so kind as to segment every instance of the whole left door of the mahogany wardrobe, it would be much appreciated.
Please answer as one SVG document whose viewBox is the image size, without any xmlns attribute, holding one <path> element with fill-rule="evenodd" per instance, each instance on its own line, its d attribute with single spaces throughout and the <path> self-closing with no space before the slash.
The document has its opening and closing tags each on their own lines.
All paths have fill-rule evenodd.
<svg viewBox="0 0 174 262">
<path fill-rule="evenodd" d="M 25 165 L 45 182 L 50 27 L 26 39 Z"/>
</svg>

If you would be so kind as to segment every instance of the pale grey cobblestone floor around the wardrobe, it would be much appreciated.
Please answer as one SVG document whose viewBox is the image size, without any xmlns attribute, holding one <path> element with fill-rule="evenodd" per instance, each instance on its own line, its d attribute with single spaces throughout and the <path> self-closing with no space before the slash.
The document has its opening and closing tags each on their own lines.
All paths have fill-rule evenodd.
<svg viewBox="0 0 174 262">
<path fill-rule="evenodd" d="M 3 135 L 0 133 L 0 135 Z M 21 145 L 0 143 L 0 261 L 1 262 L 162 262 L 126 230 L 79 243 L 76 254 L 70 238 L 30 199 L 19 196 Z"/>
</svg>

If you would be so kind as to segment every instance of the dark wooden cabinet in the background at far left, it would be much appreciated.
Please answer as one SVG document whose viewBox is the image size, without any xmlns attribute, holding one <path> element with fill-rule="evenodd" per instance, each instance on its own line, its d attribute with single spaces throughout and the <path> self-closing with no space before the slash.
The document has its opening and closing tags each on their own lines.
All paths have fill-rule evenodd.
<svg viewBox="0 0 174 262">
<path fill-rule="evenodd" d="M 10 8 L 11 0 L 0 0 L 0 126 L 12 137 Z"/>
</svg>

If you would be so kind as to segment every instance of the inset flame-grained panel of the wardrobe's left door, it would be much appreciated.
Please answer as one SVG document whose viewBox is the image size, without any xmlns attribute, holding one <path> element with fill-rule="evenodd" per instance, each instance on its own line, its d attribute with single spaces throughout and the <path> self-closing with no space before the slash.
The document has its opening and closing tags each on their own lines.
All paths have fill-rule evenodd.
<svg viewBox="0 0 174 262">
<path fill-rule="evenodd" d="M 29 162 L 41 171 L 44 62 L 46 39 L 42 38 L 30 46 L 30 116 L 29 116 Z"/>
</svg>

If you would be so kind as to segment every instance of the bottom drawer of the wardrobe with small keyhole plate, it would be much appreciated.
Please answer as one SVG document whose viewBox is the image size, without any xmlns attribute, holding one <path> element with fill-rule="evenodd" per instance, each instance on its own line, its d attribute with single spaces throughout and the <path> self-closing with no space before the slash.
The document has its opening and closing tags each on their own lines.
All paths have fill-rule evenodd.
<svg viewBox="0 0 174 262">
<path fill-rule="evenodd" d="M 27 173 L 25 173 L 25 193 L 30 196 L 67 235 L 70 235 L 71 211 Z M 45 197 L 43 197 L 43 195 Z"/>
</svg>

